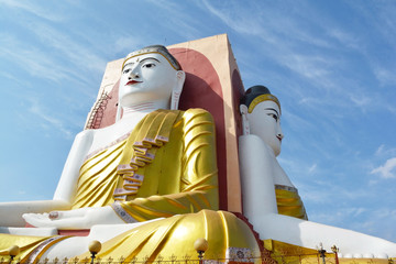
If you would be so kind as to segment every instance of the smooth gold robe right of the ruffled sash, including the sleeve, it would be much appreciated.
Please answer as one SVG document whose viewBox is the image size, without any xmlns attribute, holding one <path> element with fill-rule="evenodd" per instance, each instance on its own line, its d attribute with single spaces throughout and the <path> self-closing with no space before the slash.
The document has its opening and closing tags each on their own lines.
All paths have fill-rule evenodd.
<svg viewBox="0 0 396 264">
<path fill-rule="evenodd" d="M 144 172 L 136 172 L 144 175 L 136 198 L 121 202 L 122 209 L 138 221 L 218 209 L 215 124 L 210 113 L 202 109 L 182 112 L 167 134 L 169 141 L 155 152 L 153 163 L 145 165 Z"/>
</svg>

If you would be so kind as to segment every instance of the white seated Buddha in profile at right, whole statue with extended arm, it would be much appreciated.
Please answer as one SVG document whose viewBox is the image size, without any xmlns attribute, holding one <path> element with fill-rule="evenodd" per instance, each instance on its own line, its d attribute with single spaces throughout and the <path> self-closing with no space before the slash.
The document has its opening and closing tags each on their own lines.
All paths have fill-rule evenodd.
<svg viewBox="0 0 396 264">
<path fill-rule="evenodd" d="M 280 103 L 264 86 L 254 86 L 241 99 L 243 135 L 239 139 L 244 215 L 262 240 L 328 251 L 343 257 L 396 256 L 396 244 L 363 233 L 307 220 L 297 189 L 278 164 L 284 138 Z M 356 242 L 359 241 L 359 242 Z"/>
</svg>

